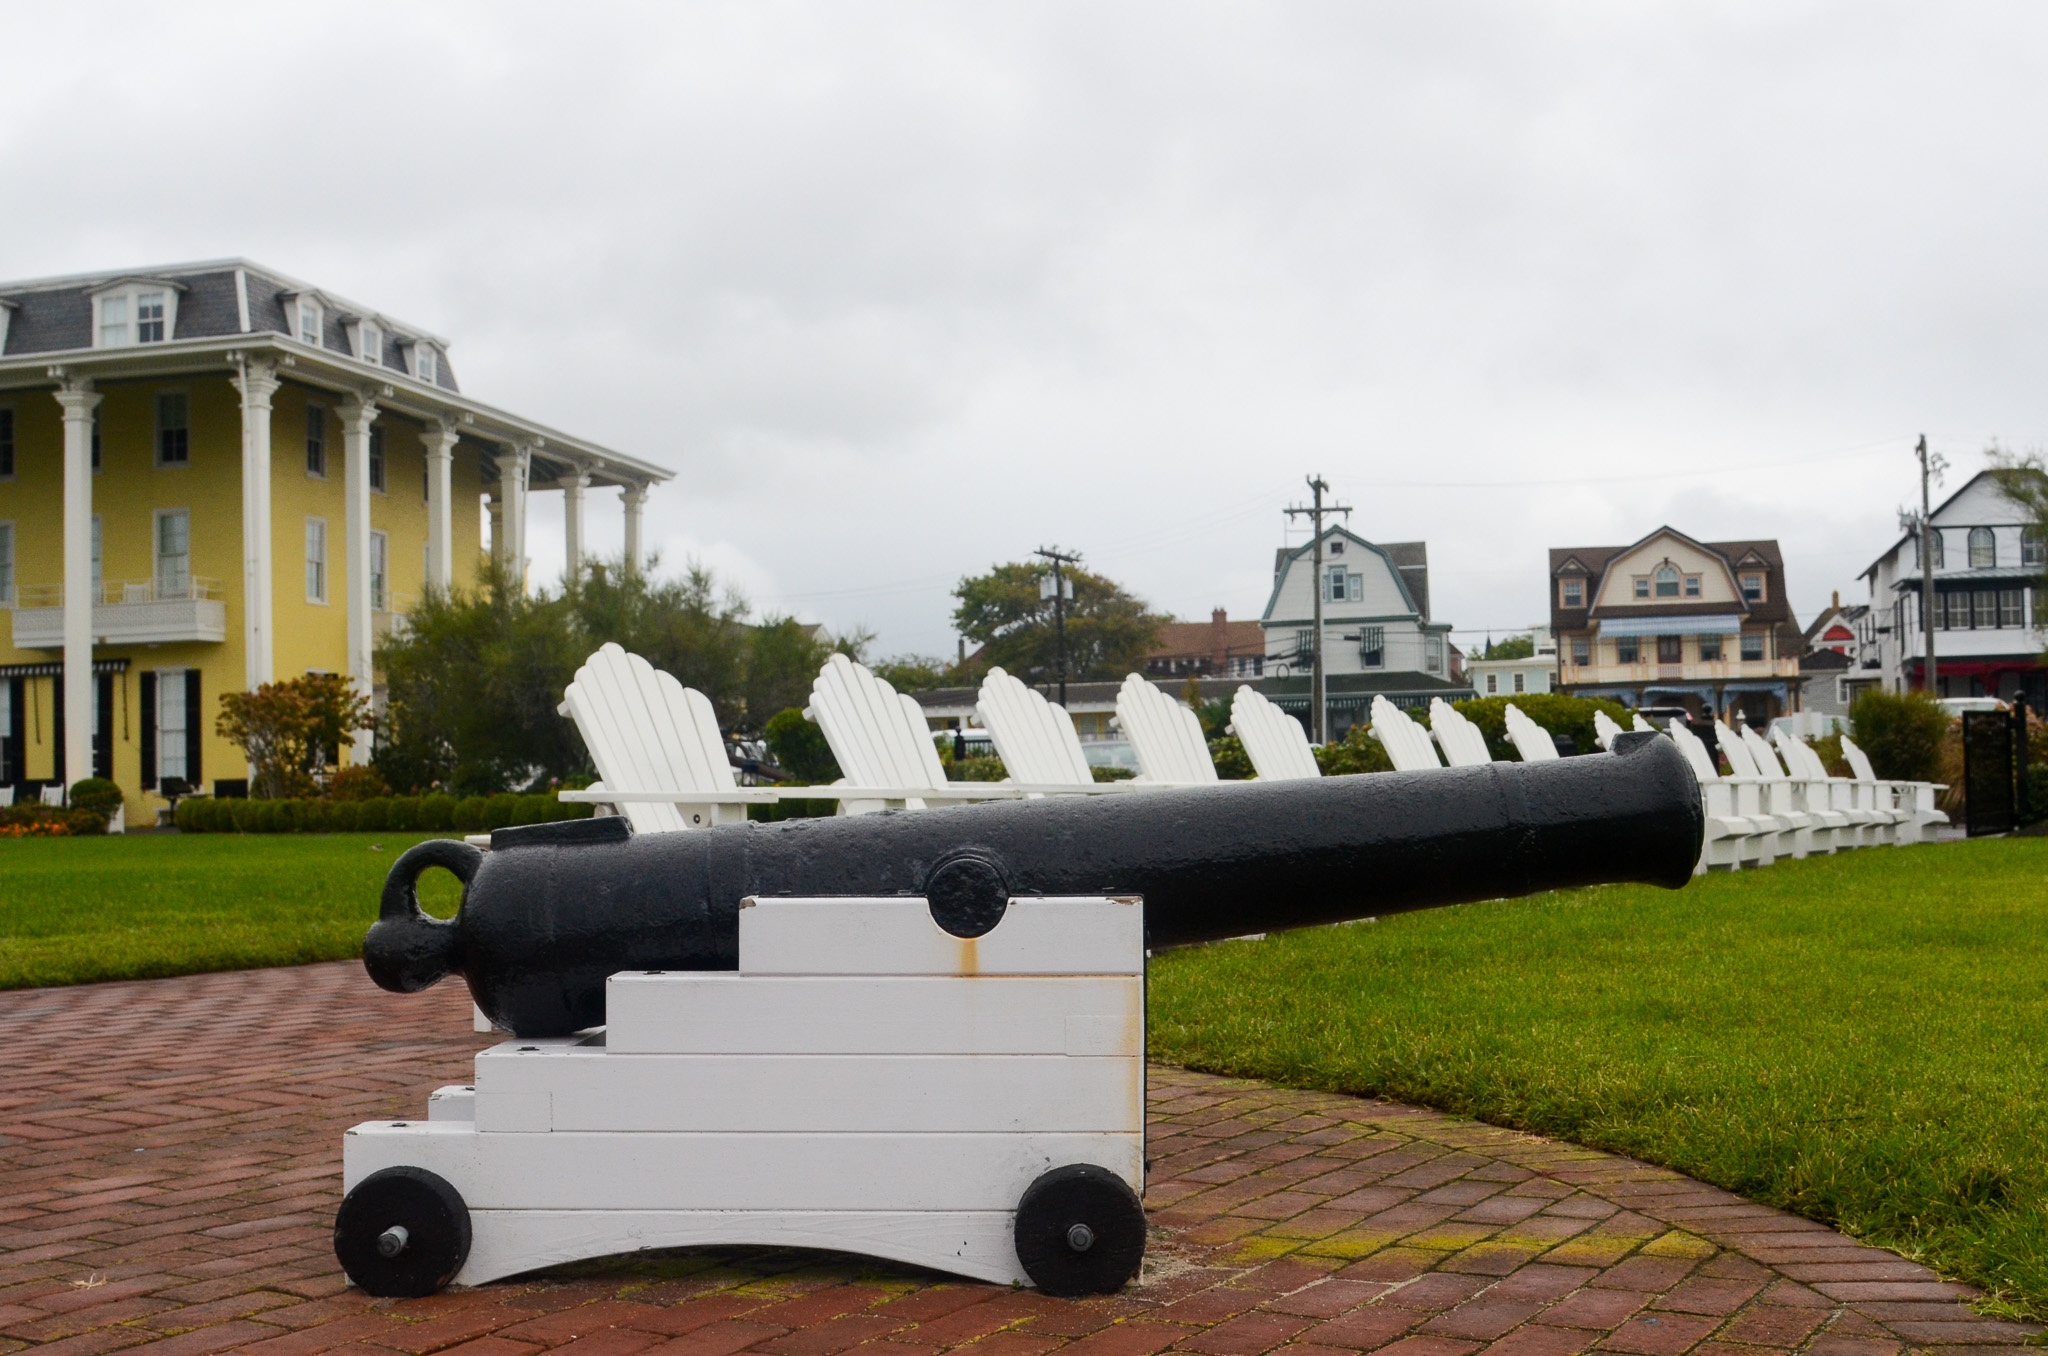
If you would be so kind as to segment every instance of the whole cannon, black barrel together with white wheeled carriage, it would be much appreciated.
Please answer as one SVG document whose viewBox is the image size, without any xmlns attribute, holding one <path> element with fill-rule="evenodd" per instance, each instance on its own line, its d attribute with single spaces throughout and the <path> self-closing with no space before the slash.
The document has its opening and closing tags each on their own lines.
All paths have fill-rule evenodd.
<svg viewBox="0 0 2048 1356">
<path fill-rule="evenodd" d="M 1147 946 L 1602 881 L 1679 887 L 1669 741 L 1425 774 L 436 840 L 365 965 L 461 973 L 516 1036 L 426 1120 L 344 1139 L 377 1295 L 692 1243 L 862 1252 L 1055 1295 L 1145 1245 Z M 465 881 L 453 920 L 416 881 Z M 602 1026 L 602 1030 L 598 1030 Z"/>
</svg>

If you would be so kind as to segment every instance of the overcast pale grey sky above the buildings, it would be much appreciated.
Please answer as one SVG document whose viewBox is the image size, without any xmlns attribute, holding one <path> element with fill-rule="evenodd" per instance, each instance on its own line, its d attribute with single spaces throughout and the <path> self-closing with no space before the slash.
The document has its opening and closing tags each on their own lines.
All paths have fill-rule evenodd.
<svg viewBox="0 0 2048 1356">
<path fill-rule="evenodd" d="M 1776 537 L 1804 621 L 1917 432 L 1950 488 L 2048 442 L 2042 4 L 4 18 L 0 277 L 244 254 L 446 334 L 676 471 L 668 567 L 881 653 L 1051 543 L 1257 617 L 1309 471 L 1460 631 L 1663 522 Z"/>
</svg>

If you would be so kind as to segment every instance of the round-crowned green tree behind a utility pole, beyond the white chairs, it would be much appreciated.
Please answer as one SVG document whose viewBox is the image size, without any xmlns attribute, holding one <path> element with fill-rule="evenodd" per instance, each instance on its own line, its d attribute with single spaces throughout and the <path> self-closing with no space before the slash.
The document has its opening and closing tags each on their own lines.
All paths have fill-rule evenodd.
<svg viewBox="0 0 2048 1356">
<path fill-rule="evenodd" d="M 981 668 L 999 664 L 1024 682 L 1051 682 L 1059 676 L 1053 602 L 1038 596 L 1038 582 L 1049 574 L 1051 565 L 1014 561 L 954 586 L 952 596 L 961 604 L 952 610 L 952 625 L 981 645 Z M 1100 574 L 1073 565 L 1063 574 L 1073 582 L 1073 598 L 1067 602 L 1067 676 L 1122 678 L 1139 668 L 1167 619 Z"/>
</svg>

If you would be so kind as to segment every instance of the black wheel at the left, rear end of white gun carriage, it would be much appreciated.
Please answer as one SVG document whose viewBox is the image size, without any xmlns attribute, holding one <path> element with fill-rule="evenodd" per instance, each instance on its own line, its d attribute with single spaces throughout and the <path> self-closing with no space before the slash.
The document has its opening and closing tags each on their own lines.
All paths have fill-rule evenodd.
<svg viewBox="0 0 2048 1356">
<path fill-rule="evenodd" d="M 369 1295 L 432 1295 L 469 1260 L 469 1206 L 426 1168 L 373 1172 L 334 1215 L 334 1256 Z"/>
</svg>

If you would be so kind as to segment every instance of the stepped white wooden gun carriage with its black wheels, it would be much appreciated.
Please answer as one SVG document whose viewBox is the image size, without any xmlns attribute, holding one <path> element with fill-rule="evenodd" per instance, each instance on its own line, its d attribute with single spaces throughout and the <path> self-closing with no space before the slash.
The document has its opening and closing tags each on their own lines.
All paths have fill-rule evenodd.
<svg viewBox="0 0 2048 1356">
<path fill-rule="evenodd" d="M 1145 1247 L 1145 928 L 1016 899 L 748 899 L 737 971 L 627 971 L 606 1026 L 506 1041 L 424 1120 L 346 1133 L 336 1252 L 375 1295 L 680 1245 L 795 1245 L 1049 1293 Z"/>
</svg>

